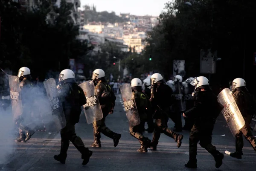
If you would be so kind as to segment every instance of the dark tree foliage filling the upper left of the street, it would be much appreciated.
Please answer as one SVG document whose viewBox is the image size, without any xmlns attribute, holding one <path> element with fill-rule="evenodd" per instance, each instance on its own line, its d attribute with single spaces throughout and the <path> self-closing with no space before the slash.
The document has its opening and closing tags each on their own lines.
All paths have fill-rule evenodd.
<svg viewBox="0 0 256 171">
<path fill-rule="evenodd" d="M 69 67 L 70 58 L 81 58 L 87 44 L 77 39 L 79 26 L 70 20 L 72 4 L 61 1 L 60 8 L 51 8 L 47 0 L 28 12 L 11 0 L 0 0 L 1 39 L 0 65 L 18 71 L 26 66 L 32 76 L 45 78 L 49 70 Z M 55 12 L 53 23 L 47 14 Z"/>
</svg>

